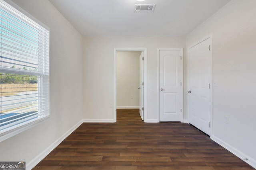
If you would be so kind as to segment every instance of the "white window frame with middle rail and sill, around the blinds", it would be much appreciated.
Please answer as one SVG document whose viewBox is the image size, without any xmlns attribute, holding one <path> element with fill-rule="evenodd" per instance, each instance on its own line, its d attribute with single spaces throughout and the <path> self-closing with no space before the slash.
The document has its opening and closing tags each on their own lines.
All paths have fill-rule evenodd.
<svg viewBox="0 0 256 170">
<path fill-rule="evenodd" d="M 1 73 L 7 73 L 7 74 L 22 74 L 22 75 L 28 75 L 28 76 L 38 76 L 43 80 L 43 83 L 40 83 L 40 85 L 38 84 L 38 89 L 43 89 L 40 92 L 40 96 L 46 95 L 46 111 L 44 112 L 44 114 L 40 115 L 39 117 L 37 117 L 36 119 L 33 120 L 29 120 L 29 121 L 25 121 L 22 123 L 19 123 L 18 125 L 14 125 L 11 128 L 7 128 L 7 129 L 0 129 L 0 142 L 4 141 L 18 133 L 21 133 L 22 131 L 25 131 L 26 129 L 29 129 L 31 127 L 34 127 L 35 125 L 38 125 L 38 123 L 44 121 L 45 119 L 48 119 L 50 116 L 50 70 L 49 70 L 49 66 L 50 66 L 50 61 L 49 61 L 49 55 L 50 55 L 50 28 L 47 27 L 46 25 L 44 25 L 42 22 L 40 22 L 39 20 L 37 20 L 36 18 L 34 18 L 33 16 L 31 16 L 28 12 L 26 12 L 25 10 L 23 10 L 22 8 L 20 8 L 18 5 L 16 5 L 14 2 L 10 1 L 10 0 L 0 0 L 0 6 L 2 9 L 2 5 L 4 6 L 8 6 L 8 8 L 10 8 L 11 10 L 13 10 L 15 13 L 17 13 L 20 18 L 18 18 L 19 20 L 22 20 L 22 18 L 24 18 L 23 21 L 26 22 L 31 22 L 32 24 L 36 24 L 38 27 L 38 31 L 40 29 L 44 30 L 44 33 L 47 34 L 47 38 L 46 41 L 48 41 L 48 52 L 44 53 L 44 55 L 46 55 L 46 58 L 48 59 L 48 63 L 46 64 L 46 67 L 48 68 L 48 71 L 45 72 L 45 69 L 38 66 L 38 71 L 30 71 L 30 70 L 24 70 L 24 69 L 16 69 L 16 68 L 6 68 L 6 67 L 2 67 L 0 65 L 0 72 Z M 44 35 L 45 35 L 44 34 Z M 39 42 L 44 42 L 44 37 L 41 37 L 40 35 L 38 35 L 38 40 Z M 40 48 L 40 45 L 38 45 L 38 51 L 42 50 Z M 38 54 L 38 62 L 40 62 L 40 60 L 42 60 L 42 58 L 44 56 L 41 56 L 40 53 Z M 40 71 L 39 71 L 40 70 Z M 41 99 L 38 98 L 38 102 Z M 2 100 L 1 100 L 2 101 Z M 1 102 L 2 105 L 2 102 Z M 38 106 L 38 109 L 41 109 L 41 105 Z"/>
</svg>

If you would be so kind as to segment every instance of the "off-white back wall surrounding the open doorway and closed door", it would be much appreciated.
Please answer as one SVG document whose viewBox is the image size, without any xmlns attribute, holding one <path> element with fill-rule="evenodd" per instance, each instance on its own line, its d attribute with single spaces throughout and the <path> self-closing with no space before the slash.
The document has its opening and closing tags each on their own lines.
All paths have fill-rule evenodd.
<svg viewBox="0 0 256 170">
<path fill-rule="evenodd" d="M 84 118 L 113 120 L 114 48 L 147 48 L 147 119 L 157 121 L 157 48 L 185 47 L 185 37 L 84 37 Z M 86 121 L 86 120 L 85 120 Z"/>
</svg>

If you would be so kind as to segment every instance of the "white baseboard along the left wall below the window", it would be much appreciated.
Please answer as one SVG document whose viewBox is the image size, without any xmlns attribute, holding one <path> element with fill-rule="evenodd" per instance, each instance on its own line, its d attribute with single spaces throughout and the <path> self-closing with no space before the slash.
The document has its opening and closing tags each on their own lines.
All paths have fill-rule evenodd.
<svg viewBox="0 0 256 170">
<path fill-rule="evenodd" d="M 59 139 L 57 139 L 52 145 L 50 145 L 48 148 L 46 148 L 42 153 L 40 153 L 38 156 L 36 156 L 34 159 L 32 159 L 30 162 L 26 163 L 26 170 L 31 170 L 34 168 L 41 160 L 43 160 L 52 150 L 54 150 L 68 135 L 70 135 L 74 130 L 76 130 L 83 121 L 79 121 L 74 125 L 71 129 L 69 129 L 64 135 L 62 135 Z"/>
</svg>

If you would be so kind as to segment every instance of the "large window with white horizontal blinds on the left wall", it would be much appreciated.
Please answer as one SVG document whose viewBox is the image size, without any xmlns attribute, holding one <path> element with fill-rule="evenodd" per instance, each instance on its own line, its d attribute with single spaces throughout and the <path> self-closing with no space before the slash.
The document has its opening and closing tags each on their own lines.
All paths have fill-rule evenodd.
<svg viewBox="0 0 256 170">
<path fill-rule="evenodd" d="M 49 34 L 0 0 L 0 141 L 49 116 Z"/>
</svg>

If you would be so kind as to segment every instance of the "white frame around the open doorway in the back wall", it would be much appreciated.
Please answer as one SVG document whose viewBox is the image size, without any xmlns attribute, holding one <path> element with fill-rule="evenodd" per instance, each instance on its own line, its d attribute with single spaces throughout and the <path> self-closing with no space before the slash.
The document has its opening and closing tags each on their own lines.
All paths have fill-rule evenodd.
<svg viewBox="0 0 256 170">
<path fill-rule="evenodd" d="M 117 51 L 143 51 L 144 52 L 144 122 L 147 122 L 147 48 L 114 48 L 114 122 L 116 122 L 116 52 Z"/>
</svg>

